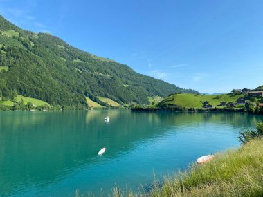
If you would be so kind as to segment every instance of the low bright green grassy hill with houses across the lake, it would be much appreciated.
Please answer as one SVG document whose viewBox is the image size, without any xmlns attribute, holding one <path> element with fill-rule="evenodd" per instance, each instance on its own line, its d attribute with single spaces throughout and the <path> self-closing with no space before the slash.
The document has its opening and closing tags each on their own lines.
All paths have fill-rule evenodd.
<svg viewBox="0 0 263 197">
<path fill-rule="evenodd" d="M 201 108 L 203 102 L 208 101 L 209 104 L 219 105 L 221 102 L 237 102 L 237 99 L 244 97 L 244 94 L 232 95 L 194 95 L 194 94 L 178 94 L 166 97 L 158 106 L 165 106 L 165 104 L 173 104 L 185 108 Z"/>
</svg>

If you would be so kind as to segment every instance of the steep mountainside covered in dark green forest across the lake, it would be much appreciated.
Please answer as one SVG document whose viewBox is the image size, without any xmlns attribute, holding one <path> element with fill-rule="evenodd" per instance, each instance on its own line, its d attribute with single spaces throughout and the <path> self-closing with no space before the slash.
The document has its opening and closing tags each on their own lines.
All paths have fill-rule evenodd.
<svg viewBox="0 0 263 197">
<path fill-rule="evenodd" d="M 147 104 L 147 97 L 197 93 L 140 75 L 129 66 L 97 57 L 60 38 L 22 30 L 0 16 L 0 97 L 18 93 L 52 106 L 87 108 L 85 96 L 120 104 Z"/>
</svg>

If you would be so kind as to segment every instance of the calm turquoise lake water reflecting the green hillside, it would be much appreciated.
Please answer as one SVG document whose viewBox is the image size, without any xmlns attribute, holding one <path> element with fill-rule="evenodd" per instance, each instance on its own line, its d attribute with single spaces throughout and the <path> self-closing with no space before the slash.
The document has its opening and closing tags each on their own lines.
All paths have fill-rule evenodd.
<svg viewBox="0 0 263 197">
<path fill-rule="evenodd" d="M 154 173 L 238 147 L 239 131 L 262 121 L 246 113 L 0 111 L 0 196 L 136 191 Z"/>
</svg>

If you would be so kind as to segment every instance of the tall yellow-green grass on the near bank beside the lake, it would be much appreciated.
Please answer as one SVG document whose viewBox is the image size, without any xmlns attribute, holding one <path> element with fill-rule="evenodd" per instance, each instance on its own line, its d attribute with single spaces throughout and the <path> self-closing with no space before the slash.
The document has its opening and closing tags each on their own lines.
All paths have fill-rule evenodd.
<svg viewBox="0 0 263 197">
<path fill-rule="evenodd" d="M 166 178 L 150 196 L 263 196 L 263 140 L 216 154 L 205 165 L 192 165 Z"/>
</svg>

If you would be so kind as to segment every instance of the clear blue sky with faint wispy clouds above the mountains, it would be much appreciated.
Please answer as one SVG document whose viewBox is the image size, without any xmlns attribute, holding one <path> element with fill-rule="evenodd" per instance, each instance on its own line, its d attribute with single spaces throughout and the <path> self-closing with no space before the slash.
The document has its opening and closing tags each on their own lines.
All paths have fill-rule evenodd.
<svg viewBox="0 0 263 197">
<path fill-rule="evenodd" d="M 0 14 L 201 93 L 263 85 L 262 0 L 0 0 Z"/>
</svg>

